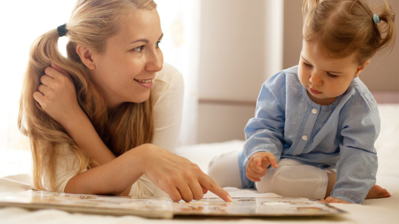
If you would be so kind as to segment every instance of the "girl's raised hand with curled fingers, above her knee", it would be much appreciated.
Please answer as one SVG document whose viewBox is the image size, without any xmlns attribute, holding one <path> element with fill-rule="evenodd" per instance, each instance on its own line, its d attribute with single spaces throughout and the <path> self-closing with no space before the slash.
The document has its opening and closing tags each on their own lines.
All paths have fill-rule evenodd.
<svg viewBox="0 0 399 224">
<path fill-rule="evenodd" d="M 272 165 L 277 167 L 277 159 L 273 153 L 257 152 L 249 158 L 247 164 L 247 177 L 253 182 L 261 181 L 261 177 L 265 176 L 267 167 Z"/>
</svg>

